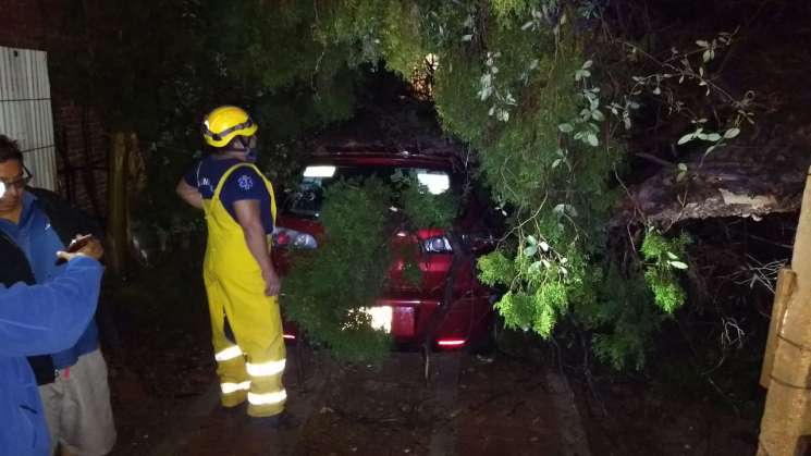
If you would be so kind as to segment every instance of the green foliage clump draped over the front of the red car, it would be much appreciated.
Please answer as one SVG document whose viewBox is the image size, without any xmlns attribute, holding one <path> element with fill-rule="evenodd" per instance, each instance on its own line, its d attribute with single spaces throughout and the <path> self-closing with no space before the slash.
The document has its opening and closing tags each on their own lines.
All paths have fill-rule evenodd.
<svg viewBox="0 0 811 456">
<path fill-rule="evenodd" d="M 342 360 L 378 362 L 389 350 L 388 335 L 371 326 L 363 309 L 380 295 L 391 260 L 390 199 L 376 180 L 327 188 L 321 211 L 327 238 L 316 254 L 294 258 L 284 282 L 287 317 Z"/>
</svg>

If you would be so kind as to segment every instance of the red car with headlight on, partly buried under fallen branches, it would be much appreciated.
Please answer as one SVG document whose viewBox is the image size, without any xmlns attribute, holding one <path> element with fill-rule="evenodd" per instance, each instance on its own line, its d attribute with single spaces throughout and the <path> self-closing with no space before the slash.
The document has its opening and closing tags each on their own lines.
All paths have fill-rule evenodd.
<svg viewBox="0 0 811 456">
<path fill-rule="evenodd" d="M 432 193 L 460 194 L 466 183 L 464 170 L 450 156 L 340 149 L 311 156 L 306 160 L 302 188 L 286 198 L 278 215 L 274 259 L 281 270 L 291 249 L 317 248 L 323 232 L 318 221 L 323 186 L 341 177 L 391 177 L 397 171 L 416 174 Z M 495 299 L 493 291 L 477 279 L 476 258 L 494 247 L 499 225 L 488 226 L 497 218 L 478 196 L 468 192 L 462 214 L 447 233 L 422 227 L 393 234 L 393 244 L 420 246 L 422 281 L 418 286 L 407 285 L 402 280 L 404 259 L 395 257 L 389 285 L 369 312 L 372 324 L 390 331 L 398 345 L 454 349 L 488 342 Z M 285 338 L 296 337 L 295 324 L 285 323 Z"/>
</svg>

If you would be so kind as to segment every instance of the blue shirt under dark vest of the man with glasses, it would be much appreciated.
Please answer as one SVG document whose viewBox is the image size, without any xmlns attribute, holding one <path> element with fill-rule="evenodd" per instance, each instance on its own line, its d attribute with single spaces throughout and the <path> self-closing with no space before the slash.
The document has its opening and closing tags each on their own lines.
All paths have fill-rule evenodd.
<svg viewBox="0 0 811 456">
<path fill-rule="evenodd" d="M 36 283 L 49 283 L 62 274 L 65 264 L 57 266 L 56 254 L 57 250 L 64 250 L 65 246 L 51 227 L 48 215 L 38 207 L 36 196 L 25 192 L 20 222 L 12 223 L 0 219 L 0 230 L 23 250 L 34 272 Z M 79 356 L 95 350 L 98 346 L 98 328 L 96 321 L 90 320 L 73 347 L 51 355 L 53 367 L 57 369 L 71 367 L 76 363 Z"/>
</svg>

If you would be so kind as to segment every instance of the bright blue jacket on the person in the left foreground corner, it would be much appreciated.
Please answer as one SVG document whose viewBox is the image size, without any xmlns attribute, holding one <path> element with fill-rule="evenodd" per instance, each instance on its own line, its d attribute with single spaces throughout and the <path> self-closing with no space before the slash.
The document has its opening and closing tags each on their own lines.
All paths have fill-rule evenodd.
<svg viewBox="0 0 811 456">
<path fill-rule="evenodd" d="M 26 356 L 76 343 L 96 310 L 103 268 L 79 257 L 44 285 L 0 285 L 0 452 L 48 455 L 48 428 Z"/>
</svg>

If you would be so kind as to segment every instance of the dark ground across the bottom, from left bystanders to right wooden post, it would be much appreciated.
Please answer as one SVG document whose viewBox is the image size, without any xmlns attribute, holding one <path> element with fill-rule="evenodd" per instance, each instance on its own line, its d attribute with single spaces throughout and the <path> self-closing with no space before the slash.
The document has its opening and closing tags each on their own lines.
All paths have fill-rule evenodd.
<svg viewBox="0 0 811 456">
<path fill-rule="evenodd" d="M 164 268 L 106 284 L 99 323 L 119 430 L 116 456 L 739 456 L 757 448 L 762 404 L 744 403 L 736 410 L 705 390 L 685 390 L 686 382 L 674 380 L 677 366 L 675 377 L 606 375 L 593 384 L 569 371 L 572 397 L 551 385 L 550 372 L 560 372 L 551 358 L 502 352 L 433 354 L 426 379 L 420 353 L 393 353 L 372 369 L 291 346 L 285 384 L 300 426 L 274 432 L 244 410 L 217 404 L 197 271 Z M 572 403 L 579 414 L 574 419 L 561 411 L 561 404 Z M 568 432 L 580 422 L 585 451 L 576 449 Z"/>
</svg>

